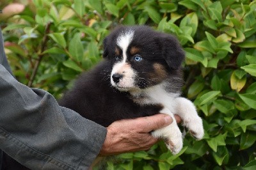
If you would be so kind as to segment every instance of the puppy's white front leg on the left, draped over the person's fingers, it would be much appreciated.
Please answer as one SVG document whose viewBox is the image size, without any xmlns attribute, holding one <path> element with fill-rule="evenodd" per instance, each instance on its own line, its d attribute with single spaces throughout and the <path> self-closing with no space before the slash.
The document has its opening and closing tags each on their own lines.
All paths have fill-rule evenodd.
<svg viewBox="0 0 256 170">
<path fill-rule="evenodd" d="M 152 135 L 156 138 L 164 139 L 167 148 L 172 151 L 173 154 L 177 154 L 182 149 L 183 145 L 180 129 L 173 116 L 173 113 L 169 109 L 164 108 L 160 111 L 160 113 L 170 115 L 173 119 L 173 123 L 168 125 L 167 127 L 154 130 L 154 132 L 152 132 Z"/>
</svg>

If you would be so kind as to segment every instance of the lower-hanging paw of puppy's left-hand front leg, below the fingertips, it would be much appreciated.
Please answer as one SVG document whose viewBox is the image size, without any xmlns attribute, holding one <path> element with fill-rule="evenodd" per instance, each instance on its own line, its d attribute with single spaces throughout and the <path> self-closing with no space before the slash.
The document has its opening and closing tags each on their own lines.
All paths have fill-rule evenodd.
<svg viewBox="0 0 256 170">
<path fill-rule="evenodd" d="M 177 138 L 172 137 L 172 139 L 166 139 L 165 144 L 168 150 L 170 150 L 173 155 L 176 155 L 182 149 L 182 146 L 183 146 L 182 137 L 177 137 Z"/>
</svg>

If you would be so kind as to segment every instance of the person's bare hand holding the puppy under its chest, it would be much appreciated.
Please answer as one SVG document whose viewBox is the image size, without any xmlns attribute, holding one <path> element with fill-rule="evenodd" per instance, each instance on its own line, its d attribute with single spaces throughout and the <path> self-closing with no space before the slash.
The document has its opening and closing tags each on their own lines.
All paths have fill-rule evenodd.
<svg viewBox="0 0 256 170">
<path fill-rule="evenodd" d="M 176 115 L 175 120 L 177 123 L 181 121 Z M 172 122 L 172 118 L 166 114 L 115 121 L 107 127 L 108 132 L 99 155 L 108 156 L 148 150 L 158 141 L 150 132 L 166 127 Z"/>
</svg>

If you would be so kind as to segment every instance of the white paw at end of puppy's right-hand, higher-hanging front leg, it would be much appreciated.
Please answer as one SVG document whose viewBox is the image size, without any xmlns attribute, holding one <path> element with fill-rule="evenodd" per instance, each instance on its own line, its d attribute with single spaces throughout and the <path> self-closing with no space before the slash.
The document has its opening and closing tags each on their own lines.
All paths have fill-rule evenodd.
<svg viewBox="0 0 256 170">
<path fill-rule="evenodd" d="M 196 140 L 200 140 L 204 137 L 204 127 L 201 118 L 189 121 L 186 127 L 188 127 L 189 133 L 193 135 Z"/>
</svg>

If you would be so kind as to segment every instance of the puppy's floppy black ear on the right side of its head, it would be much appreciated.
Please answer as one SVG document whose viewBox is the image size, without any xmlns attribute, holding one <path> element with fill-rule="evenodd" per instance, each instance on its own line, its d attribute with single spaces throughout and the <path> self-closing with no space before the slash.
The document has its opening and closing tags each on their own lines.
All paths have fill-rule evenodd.
<svg viewBox="0 0 256 170">
<path fill-rule="evenodd" d="M 172 35 L 162 35 L 159 37 L 162 44 L 162 55 L 168 66 L 172 69 L 180 68 L 182 61 L 185 58 L 185 53 L 180 46 L 179 41 Z"/>
</svg>

